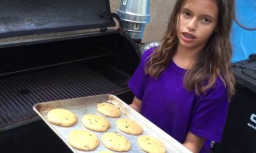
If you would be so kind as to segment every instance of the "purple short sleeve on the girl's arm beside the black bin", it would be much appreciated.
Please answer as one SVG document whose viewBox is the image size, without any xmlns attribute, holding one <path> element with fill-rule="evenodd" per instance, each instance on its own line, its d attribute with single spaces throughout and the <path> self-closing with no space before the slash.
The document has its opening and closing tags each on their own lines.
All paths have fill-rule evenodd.
<svg viewBox="0 0 256 153">
<path fill-rule="evenodd" d="M 195 105 L 189 131 L 204 139 L 221 141 L 228 106 L 227 90 L 218 78 L 214 88 L 202 95 Z"/>
</svg>

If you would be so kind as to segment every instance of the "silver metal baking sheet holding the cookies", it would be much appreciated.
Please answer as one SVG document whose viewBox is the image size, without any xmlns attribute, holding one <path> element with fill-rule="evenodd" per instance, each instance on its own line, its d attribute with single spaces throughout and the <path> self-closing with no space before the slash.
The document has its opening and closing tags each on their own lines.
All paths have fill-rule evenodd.
<svg viewBox="0 0 256 153">
<path fill-rule="evenodd" d="M 173 153 L 173 152 L 190 152 L 185 148 L 182 144 L 178 141 L 173 139 L 167 133 L 165 133 L 162 129 L 158 128 L 158 126 L 154 125 L 152 122 L 148 121 L 143 115 L 139 114 L 138 112 L 134 111 L 132 108 L 129 107 L 125 102 L 120 100 L 118 97 L 112 94 L 101 94 L 97 96 L 88 96 L 88 97 L 80 97 L 76 99 L 66 99 L 66 100 L 57 100 L 57 101 L 49 101 L 45 103 L 38 103 L 33 106 L 33 110 L 37 112 L 37 114 L 44 120 L 45 123 L 66 143 L 66 145 L 73 151 L 73 152 L 99 152 L 103 150 L 108 150 L 104 147 L 101 143 L 101 136 L 105 132 L 94 132 L 97 134 L 98 139 L 100 141 L 99 146 L 93 151 L 80 151 L 76 150 L 75 148 L 71 147 L 67 143 L 67 134 L 72 132 L 73 130 L 77 129 L 86 129 L 81 123 L 81 118 L 83 115 L 86 114 L 100 114 L 97 111 L 97 104 L 102 102 L 109 102 L 117 107 L 120 108 L 122 115 L 119 118 L 130 118 L 136 120 L 143 128 L 143 133 L 140 135 L 150 135 L 153 137 L 158 138 L 165 144 L 166 152 Z M 74 114 L 77 115 L 78 121 L 75 125 L 70 127 L 62 127 L 54 125 L 47 120 L 47 113 L 54 109 L 54 108 L 65 108 L 67 110 L 72 111 Z M 106 116 L 105 116 L 106 117 Z M 140 149 L 137 144 L 138 136 L 133 136 L 130 134 L 126 134 L 121 132 L 116 126 L 116 120 L 119 118 L 110 118 L 106 117 L 108 121 L 111 123 L 111 128 L 109 128 L 106 132 L 118 132 L 125 136 L 131 143 L 131 149 L 129 152 L 144 152 Z M 89 129 L 87 129 L 89 130 Z M 115 151 L 113 151 L 115 152 Z"/>
</svg>

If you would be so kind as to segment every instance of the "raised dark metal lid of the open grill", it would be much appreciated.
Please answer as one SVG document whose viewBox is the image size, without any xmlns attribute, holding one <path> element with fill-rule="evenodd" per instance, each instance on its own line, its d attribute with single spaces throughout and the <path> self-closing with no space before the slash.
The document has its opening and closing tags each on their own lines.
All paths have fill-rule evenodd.
<svg viewBox="0 0 256 153">
<path fill-rule="evenodd" d="M 115 26 L 108 0 L 3 0 L 0 38 Z"/>
</svg>

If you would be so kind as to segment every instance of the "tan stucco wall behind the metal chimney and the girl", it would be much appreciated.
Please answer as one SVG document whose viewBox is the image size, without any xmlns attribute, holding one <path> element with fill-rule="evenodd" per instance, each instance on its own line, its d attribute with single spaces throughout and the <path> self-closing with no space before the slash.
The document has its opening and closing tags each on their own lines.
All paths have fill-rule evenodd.
<svg viewBox="0 0 256 153">
<path fill-rule="evenodd" d="M 111 12 L 116 13 L 119 8 L 121 0 L 110 0 Z M 175 0 L 151 0 L 150 1 L 150 15 L 151 21 L 146 24 L 143 42 L 152 40 L 159 40 L 162 38 L 166 30 L 170 12 L 172 11 Z"/>
</svg>

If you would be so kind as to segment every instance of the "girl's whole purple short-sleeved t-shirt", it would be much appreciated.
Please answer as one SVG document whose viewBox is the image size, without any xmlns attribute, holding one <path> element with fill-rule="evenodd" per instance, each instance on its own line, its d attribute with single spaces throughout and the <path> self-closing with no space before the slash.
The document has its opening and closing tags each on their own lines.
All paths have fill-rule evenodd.
<svg viewBox="0 0 256 153">
<path fill-rule="evenodd" d="M 129 81 L 129 88 L 142 100 L 141 114 L 184 143 L 187 132 L 204 137 L 200 152 L 209 152 L 211 141 L 220 141 L 226 120 L 227 90 L 220 78 L 211 88 L 197 96 L 183 86 L 186 70 L 170 61 L 158 79 L 144 72 L 145 63 L 155 48 L 148 49 Z"/>
</svg>

